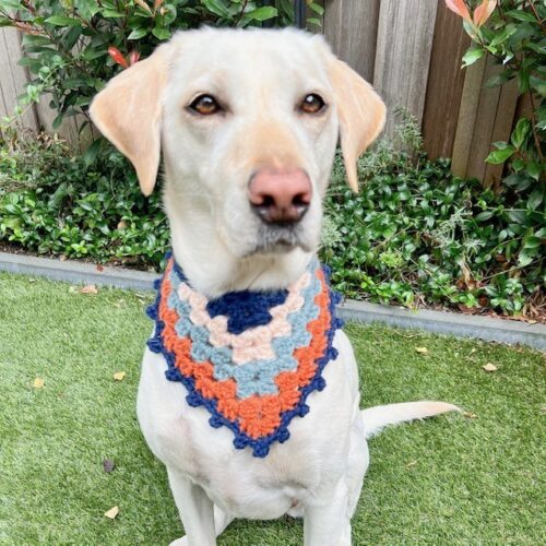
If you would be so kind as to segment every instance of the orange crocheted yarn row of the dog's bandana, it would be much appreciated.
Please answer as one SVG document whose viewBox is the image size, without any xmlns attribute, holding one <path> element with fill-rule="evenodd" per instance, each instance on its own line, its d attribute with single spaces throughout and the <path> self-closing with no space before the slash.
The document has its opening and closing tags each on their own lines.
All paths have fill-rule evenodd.
<svg viewBox="0 0 546 546">
<path fill-rule="evenodd" d="M 254 394 L 245 400 L 237 397 L 237 385 L 234 379 L 218 381 L 214 379 L 214 367 L 210 361 L 195 363 L 191 359 L 191 340 L 179 337 L 176 332 L 178 313 L 167 306 L 168 296 L 173 289 L 169 273 L 173 262 L 162 283 L 159 319 L 165 328 L 162 333 L 165 348 L 174 353 L 176 366 L 187 377 L 195 381 L 195 389 L 203 397 L 217 400 L 217 411 L 229 420 L 238 419 L 239 426 L 249 437 L 257 439 L 273 432 L 281 424 L 281 414 L 296 406 L 299 400 L 299 389 L 307 385 L 317 371 L 316 360 L 327 347 L 327 331 L 331 317 L 329 310 L 329 292 L 322 270 L 317 272 L 322 289 L 316 296 L 314 302 L 320 308 L 317 319 L 311 321 L 307 330 L 312 335 L 307 347 L 299 347 L 294 353 L 298 367 L 294 371 L 283 371 L 275 379 L 278 394 L 260 396 Z"/>
</svg>

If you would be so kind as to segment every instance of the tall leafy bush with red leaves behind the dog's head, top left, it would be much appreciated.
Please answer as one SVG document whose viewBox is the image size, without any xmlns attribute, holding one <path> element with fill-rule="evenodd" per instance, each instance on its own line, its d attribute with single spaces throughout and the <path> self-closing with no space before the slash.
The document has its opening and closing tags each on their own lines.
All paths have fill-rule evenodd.
<svg viewBox="0 0 546 546">
<path fill-rule="evenodd" d="M 254 0 L 0 0 L 0 26 L 23 33 L 22 63 L 33 81 L 22 106 L 51 93 L 57 129 L 67 116 L 86 116 L 93 96 L 120 69 L 151 54 L 179 28 L 285 26 L 292 0 L 262 5 Z M 311 10 L 322 13 L 316 2 Z M 310 23 L 318 23 L 310 19 Z M 9 121 L 9 120 L 8 120 Z M 88 120 L 82 124 L 82 129 Z"/>
</svg>

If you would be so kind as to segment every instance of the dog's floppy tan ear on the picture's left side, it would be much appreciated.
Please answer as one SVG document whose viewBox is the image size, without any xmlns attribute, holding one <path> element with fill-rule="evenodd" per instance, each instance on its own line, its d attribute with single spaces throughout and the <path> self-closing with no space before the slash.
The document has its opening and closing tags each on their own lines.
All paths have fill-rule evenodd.
<svg viewBox="0 0 546 546">
<path fill-rule="evenodd" d="M 90 107 L 95 126 L 133 164 L 144 195 L 152 193 L 159 168 L 166 80 L 167 49 L 163 46 L 110 80 Z"/>
</svg>

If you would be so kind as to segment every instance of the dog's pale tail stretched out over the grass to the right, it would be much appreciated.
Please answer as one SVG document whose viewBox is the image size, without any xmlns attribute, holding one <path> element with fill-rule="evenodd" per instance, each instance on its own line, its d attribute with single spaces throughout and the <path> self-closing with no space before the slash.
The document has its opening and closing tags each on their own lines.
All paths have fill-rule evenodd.
<svg viewBox="0 0 546 546">
<path fill-rule="evenodd" d="M 361 411 L 361 415 L 366 438 L 369 438 L 389 425 L 397 425 L 407 420 L 424 419 L 447 412 L 460 411 L 459 407 L 447 402 L 423 401 L 368 407 Z"/>
</svg>

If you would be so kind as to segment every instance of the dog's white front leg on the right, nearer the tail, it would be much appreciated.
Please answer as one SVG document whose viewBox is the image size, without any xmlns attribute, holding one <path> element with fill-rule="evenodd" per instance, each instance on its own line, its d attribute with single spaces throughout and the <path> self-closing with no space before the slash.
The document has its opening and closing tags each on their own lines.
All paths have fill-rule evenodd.
<svg viewBox="0 0 546 546">
<path fill-rule="evenodd" d="M 342 477 L 328 503 L 305 506 L 305 546 L 351 546 L 347 496 L 347 484 Z"/>
</svg>

